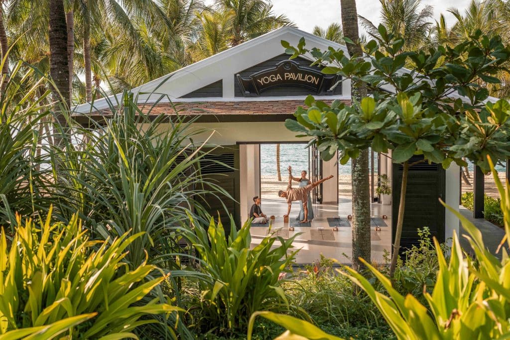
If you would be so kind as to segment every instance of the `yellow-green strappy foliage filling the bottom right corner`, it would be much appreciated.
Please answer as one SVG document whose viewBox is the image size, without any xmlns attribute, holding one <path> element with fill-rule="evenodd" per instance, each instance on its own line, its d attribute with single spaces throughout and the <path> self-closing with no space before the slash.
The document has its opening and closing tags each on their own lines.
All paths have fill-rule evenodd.
<svg viewBox="0 0 510 340">
<path fill-rule="evenodd" d="M 494 171 L 492 162 L 489 161 L 489 164 Z M 507 338 L 510 334 L 510 258 L 505 249 L 510 246 L 510 187 L 508 183 L 506 188 L 503 187 L 497 173 L 494 179 L 501 195 L 505 228 L 505 236 L 501 241 L 504 247 L 499 250 L 503 252 L 501 260 L 487 250 L 481 233 L 469 220 L 452 207 L 446 206 L 461 219 L 476 259 L 462 250 L 456 233 L 453 234 L 449 259 L 435 240 L 439 270 L 436 279 L 432 281 L 432 289 L 424 289 L 424 302 L 420 302 L 412 294 L 404 296 L 399 293 L 384 273 L 366 262 L 377 282 L 372 282 L 366 275 L 347 266 L 340 271 L 340 274 L 360 286 L 370 296 L 398 339 L 495 339 Z M 379 284 L 384 286 L 386 293 L 377 289 Z M 303 320 L 269 311 L 254 313 L 248 328 L 248 339 L 257 316 L 284 326 L 287 328 L 287 335 L 297 334 L 311 339 L 339 339 Z"/>
</svg>

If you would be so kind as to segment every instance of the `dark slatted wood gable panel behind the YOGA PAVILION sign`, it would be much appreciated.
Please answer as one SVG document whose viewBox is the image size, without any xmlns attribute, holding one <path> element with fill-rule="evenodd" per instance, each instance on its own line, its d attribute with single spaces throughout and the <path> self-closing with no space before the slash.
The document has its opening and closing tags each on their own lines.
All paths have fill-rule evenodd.
<svg viewBox="0 0 510 340">
<path fill-rule="evenodd" d="M 260 64 L 257 64 L 255 66 L 252 66 L 250 68 L 247 68 L 241 72 L 238 72 L 236 74 L 240 74 L 242 77 L 250 76 L 253 73 L 265 70 L 267 68 L 275 66 L 277 63 L 288 60 L 289 56 L 286 54 L 282 54 L 279 56 L 276 56 L 274 58 L 271 58 L 269 60 L 266 60 L 265 62 L 262 62 Z M 298 62 L 302 66 L 310 66 L 311 62 L 309 60 L 303 59 L 303 58 L 296 58 L 293 59 L 294 61 Z M 319 67 L 314 66 L 312 67 L 316 70 L 320 70 Z M 239 86 L 239 83 L 237 82 L 236 74 L 234 74 L 234 92 L 236 97 L 242 97 L 243 93 L 241 91 L 241 87 Z M 310 93 L 310 89 L 302 88 L 302 87 L 296 87 L 296 86 L 286 86 L 286 87 L 276 87 L 272 89 L 268 89 L 261 93 L 261 97 L 281 97 L 281 96 L 306 96 L 309 94 L 314 95 L 315 93 Z M 333 94 L 340 95 L 342 94 L 342 85 L 339 84 L 335 91 L 333 91 Z"/>
</svg>

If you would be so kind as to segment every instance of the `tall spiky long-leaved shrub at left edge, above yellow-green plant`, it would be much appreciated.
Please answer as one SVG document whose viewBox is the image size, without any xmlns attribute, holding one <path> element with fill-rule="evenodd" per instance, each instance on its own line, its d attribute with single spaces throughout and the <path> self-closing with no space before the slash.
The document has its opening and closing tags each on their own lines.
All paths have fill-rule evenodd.
<svg viewBox="0 0 510 340">
<path fill-rule="evenodd" d="M 8 79 L 0 80 L 5 87 L 0 95 L 0 225 L 9 223 L 11 232 L 16 222 L 11 210 L 29 215 L 44 204 L 41 188 L 48 173 L 40 166 L 46 157 L 39 144 L 50 119 L 49 91 L 39 89 L 42 80 L 28 81 L 34 69 L 21 76 L 22 65 L 13 65 Z"/>
</svg>

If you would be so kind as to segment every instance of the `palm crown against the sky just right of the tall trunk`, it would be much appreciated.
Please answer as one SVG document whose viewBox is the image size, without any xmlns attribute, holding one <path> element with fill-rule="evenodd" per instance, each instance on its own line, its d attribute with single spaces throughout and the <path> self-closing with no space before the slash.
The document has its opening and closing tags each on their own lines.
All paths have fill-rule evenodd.
<svg viewBox="0 0 510 340">
<path fill-rule="evenodd" d="M 427 40 L 433 16 L 432 6 L 420 10 L 420 0 L 379 0 L 381 4 L 380 21 L 389 32 L 405 40 L 408 50 L 416 50 Z M 380 39 L 377 27 L 367 18 L 360 16 L 361 24 L 367 33 Z"/>
</svg>

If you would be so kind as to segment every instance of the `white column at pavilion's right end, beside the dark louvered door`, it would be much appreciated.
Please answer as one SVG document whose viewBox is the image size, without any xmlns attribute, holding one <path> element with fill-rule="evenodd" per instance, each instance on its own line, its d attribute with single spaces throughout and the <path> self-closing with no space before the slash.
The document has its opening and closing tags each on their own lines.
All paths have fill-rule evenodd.
<svg viewBox="0 0 510 340">
<path fill-rule="evenodd" d="M 444 201 L 453 210 L 458 212 L 458 197 L 461 192 L 461 170 L 458 165 L 452 163 L 448 169 L 446 169 L 446 197 Z M 453 232 L 456 232 L 457 237 L 459 236 L 458 230 L 460 226 L 460 220 L 448 209 L 445 209 L 445 240 L 453 237 Z M 450 240 L 451 241 L 451 240 Z M 451 246 L 451 242 L 447 242 Z"/>
</svg>

